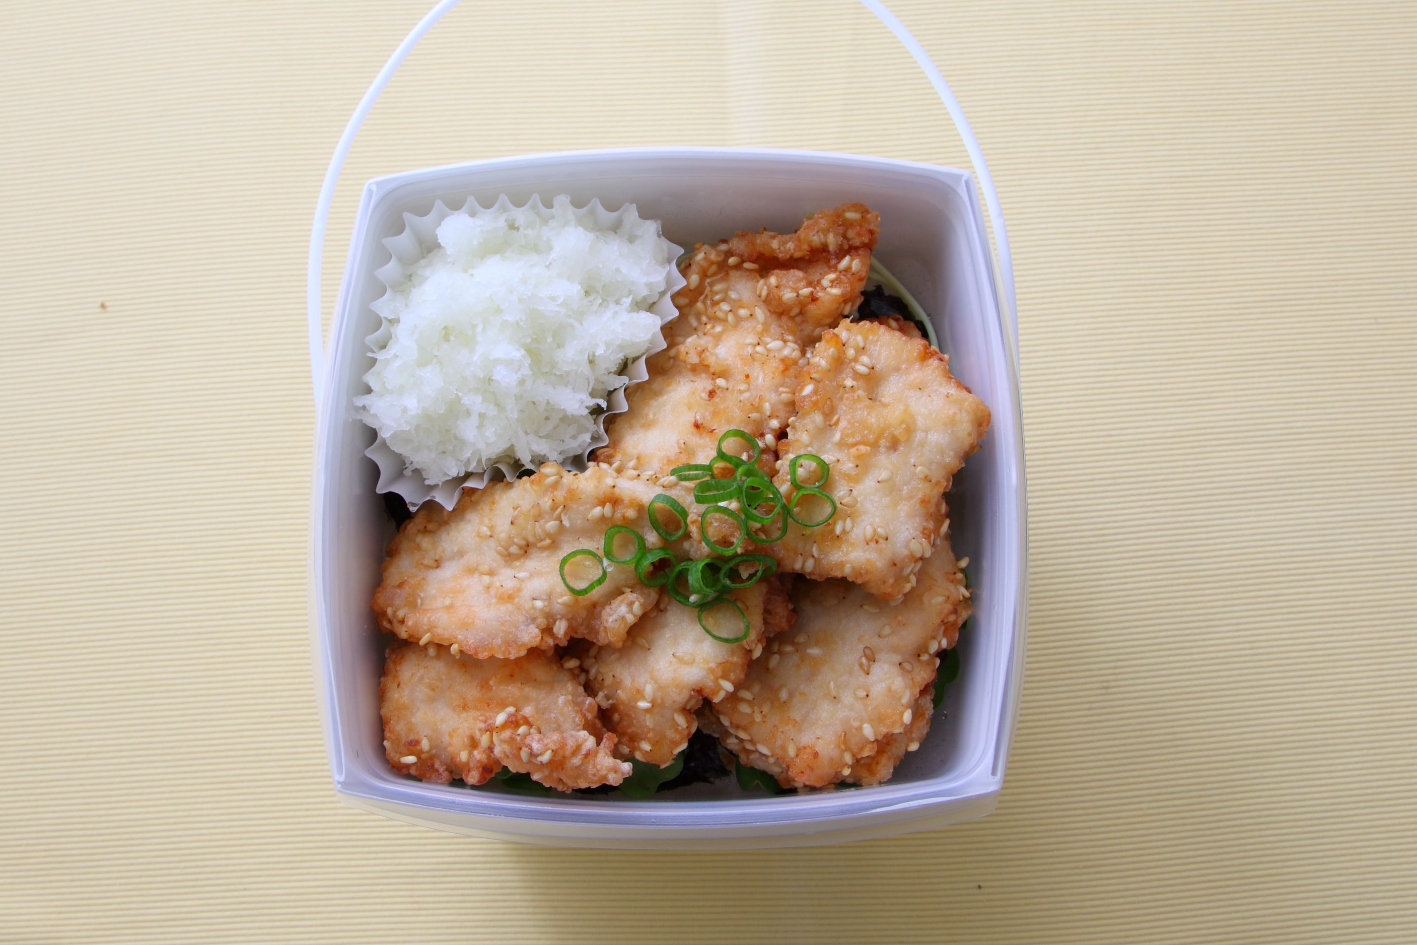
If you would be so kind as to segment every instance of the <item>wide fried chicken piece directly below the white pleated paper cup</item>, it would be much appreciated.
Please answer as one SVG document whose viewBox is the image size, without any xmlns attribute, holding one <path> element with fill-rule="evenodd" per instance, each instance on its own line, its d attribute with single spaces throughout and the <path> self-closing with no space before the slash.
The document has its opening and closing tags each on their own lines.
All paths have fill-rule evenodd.
<svg viewBox="0 0 1417 945">
<path fill-rule="evenodd" d="M 533 476 L 465 489 L 452 511 L 427 502 L 388 545 L 374 594 L 378 623 L 405 640 L 456 643 L 479 659 L 564 646 L 572 636 L 619 646 L 659 591 L 616 565 L 597 589 L 574 596 L 561 581 L 561 558 L 577 548 L 599 553 L 611 524 L 639 531 L 646 547 L 662 547 L 646 514 L 660 492 L 666 489 L 633 472 L 594 466 L 574 473 L 546 463 Z M 669 492 L 686 507 L 691 503 L 687 487 Z M 706 553 L 691 540 L 689 545 L 694 557 Z M 589 579 L 577 577 L 585 564 L 568 575 Z"/>
</svg>

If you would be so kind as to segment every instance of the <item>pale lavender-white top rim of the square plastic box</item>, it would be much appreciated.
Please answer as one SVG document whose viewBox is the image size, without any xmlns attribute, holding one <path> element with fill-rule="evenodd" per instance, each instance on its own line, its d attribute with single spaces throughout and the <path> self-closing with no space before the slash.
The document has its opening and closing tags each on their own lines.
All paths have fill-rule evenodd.
<svg viewBox="0 0 1417 945">
<path fill-rule="evenodd" d="M 992 809 L 995 798 L 1002 786 L 1009 748 L 1017 718 L 1019 693 L 1026 649 L 1027 625 L 1027 504 L 1024 482 L 1024 453 L 1023 453 L 1023 421 L 1020 404 L 1020 384 L 1016 370 L 1016 360 L 1005 357 L 999 367 L 1006 371 L 1007 387 L 1012 391 L 1012 409 L 1015 415 L 1013 449 L 1017 463 L 1013 469 L 1015 479 L 1000 483 L 1006 492 L 1012 492 L 1017 506 L 1017 561 L 1013 571 L 1017 575 L 1017 594 L 1012 604 L 1012 640 L 1009 646 L 1009 664 L 1005 672 L 1003 690 L 1000 693 L 1000 717 L 998 720 L 998 738 L 992 754 L 975 759 L 968 771 L 949 782 L 925 781 L 898 785 L 880 785 L 870 791 L 839 792 L 836 796 L 781 796 L 765 799 L 700 799 L 676 800 L 673 803 L 655 800 L 621 800 L 606 805 L 584 799 L 557 799 L 555 803 L 533 803 L 509 795 L 476 796 L 473 792 L 458 791 L 458 796 L 444 798 L 429 792 L 425 785 L 402 785 L 402 782 L 370 782 L 357 772 L 346 769 L 343 758 L 343 737 L 340 720 L 333 711 L 333 660 L 329 657 L 332 632 L 323 622 L 322 594 L 324 588 L 320 536 L 324 528 L 323 516 L 323 486 L 324 470 L 329 465 L 332 421 L 327 407 L 333 404 L 340 392 L 341 378 L 330 370 L 337 357 L 339 344 L 334 343 L 344 329 L 344 322 L 350 317 L 347 299 L 353 290 L 353 281 L 357 278 L 354 266 L 350 265 L 359 252 L 359 241 L 363 235 L 361 224 L 367 218 L 371 207 L 410 183 L 422 183 L 439 177 L 453 176 L 468 170 L 496 170 L 506 169 L 534 169 L 543 164 L 571 162 L 585 162 L 588 166 L 604 164 L 615 160 L 645 160 L 645 159 L 724 159 L 724 160 L 769 160 L 779 164 L 803 163 L 808 166 L 854 166 L 874 170 L 910 171 L 922 174 L 935 181 L 945 183 L 956 190 L 968 203 L 969 213 L 975 222 L 975 232 L 981 241 L 976 247 L 983 266 L 988 272 L 985 289 L 989 298 L 989 307 L 993 312 L 993 322 L 1000 332 L 1006 353 L 1012 351 L 1015 339 L 1005 319 L 999 289 L 996 285 L 996 269 L 993 254 L 988 245 L 988 231 L 983 224 L 983 213 L 975 188 L 973 176 L 969 171 L 908 162 L 888 157 L 874 157 L 863 154 L 849 154 L 839 152 L 789 150 L 764 147 L 711 147 L 711 146 L 672 146 L 672 147 L 616 147 L 595 150 L 567 150 L 544 152 L 533 154 L 519 154 L 506 157 L 479 159 L 425 167 L 410 171 L 383 174 L 366 181 L 359 215 L 350 235 L 350 248 L 346 268 L 340 281 L 340 292 L 336 303 L 334 326 L 332 329 L 332 343 L 324 347 L 326 370 L 320 390 L 316 463 L 312 482 L 312 530 L 310 530 L 310 587 L 309 602 L 312 622 L 312 659 L 316 669 L 317 697 L 326 748 L 330 759 L 330 771 L 337 793 L 351 806 L 374 810 L 385 816 L 404 819 L 412 823 L 427 823 L 445 830 L 470 833 L 479 836 L 497 836 L 499 839 L 526 840 L 531 843 L 570 843 L 592 846 L 615 846 L 618 839 L 626 842 L 642 840 L 653 843 L 656 837 L 666 842 L 680 840 L 693 844 L 696 839 L 708 842 L 711 837 L 731 839 L 740 836 L 747 840 L 754 832 L 767 829 L 762 816 L 769 815 L 774 829 L 771 833 L 777 843 L 767 846 L 782 846 L 795 843 L 789 834 L 805 834 L 809 832 L 845 832 L 854 833 L 856 829 L 871 829 L 879 834 L 898 833 L 915 829 L 911 822 L 917 819 L 935 819 L 931 815 L 941 815 L 955 808 L 969 808 L 972 813 L 961 810 L 959 820 L 982 816 L 988 813 L 981 805 Z M 954 791 L 948 796 L 941 796 L 942 791 Z M 456 789 L 455 789 L 456 791 Z M 830 800 L 820 803 L 820 800 Z M 803 803 L 808 802 L 808 803 Z M 483 808 L 483 810 L 469 810 L 468 808 Z M 429 823 L 427 817 L 418 816 L 419 810 L 429 813 L 445 813 L 459 823 L 444 819 Z M 945 822 L 954 822 L 948 819 Z M 496 830 L 496 826 L 506 829 Z M 560 836 L 541 834 L 527 829 L 536 825 L 548 827 L 561 826 L 571 832 Z M 764 837 L 767 839 L 767 837 Z M 745 842 L 741 846 L 762 846 L 762 843 Z"/>
</svg>

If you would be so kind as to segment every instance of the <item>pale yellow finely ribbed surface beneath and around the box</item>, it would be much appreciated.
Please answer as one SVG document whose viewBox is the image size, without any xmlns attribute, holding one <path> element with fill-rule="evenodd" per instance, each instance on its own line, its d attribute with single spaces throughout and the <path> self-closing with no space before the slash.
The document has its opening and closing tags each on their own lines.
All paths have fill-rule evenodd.
<svg viewBox="0 0 1417 945">
<path fill-rule="evenodd" d="M 0 9 L 0 939 L 1369 942 L 1417 924 L 1417 6 L 896 0 L 1015 239 L 999 810 L 767 853 L 340 806 L 306 636 L 320 174 L 428 0 Z M 846 0 L 468 3 L 360 183 L 533 150 L 964 164 Z"/>
</svg>

